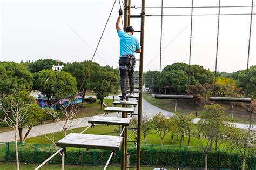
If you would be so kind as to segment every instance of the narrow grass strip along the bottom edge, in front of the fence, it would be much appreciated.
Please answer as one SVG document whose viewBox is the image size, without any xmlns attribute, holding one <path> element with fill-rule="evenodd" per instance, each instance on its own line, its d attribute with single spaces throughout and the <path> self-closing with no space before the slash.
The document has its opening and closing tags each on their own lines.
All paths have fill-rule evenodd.
<svg viewBox="0 0 256 170">
<path fill-rule="evenodd" d="M 40 164 L 32 164 L 32 163 L 21 163 L 20 164 L 20 168 L 21 170 L 25 170 L 25 169 L 35 169 L 38 165 Z M 65 165 L 65 169 L 68 170 L 84 170 L 84 169 L 94 169 L 94 170 L 102 170 L 104 168 L 104 166 L 83 166 L 83 165 Z M 159 166 L 155 166 L 155 167 L 147 167 L 147 166 L 143 166 L 141 169 L 143 170 L 152 170 L 154 168 L 160 168 Z M 16 167 L 16 162 L 0 162 L 0 169 L 1 170 L 12 170 L 12 169 L 17 169 Z M 48 164 L 48 165 L 44 165 L 42 168 L 40 168 L 42 170 L 46 170 L 46 169 L 61 169 L 61 165 L 60 164 Z M 112 170 L 119 170 L 120 166 L 118 165 L 109 165 L 107 167 L 107 169 L 112 169 Z M 168 169 L 172 169 L 172 168 L 168 168 Z"/>
</svg>

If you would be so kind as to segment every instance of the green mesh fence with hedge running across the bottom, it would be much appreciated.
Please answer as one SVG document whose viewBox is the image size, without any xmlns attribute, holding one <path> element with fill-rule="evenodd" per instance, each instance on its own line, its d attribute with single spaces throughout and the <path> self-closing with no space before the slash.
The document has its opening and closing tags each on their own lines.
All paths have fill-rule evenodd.
<svg viewBox="0 0 256 170">
<path fill-rule="evenodd" d="M 52 144 L 18 143 L 19 160 L 21 162 L 43 162 L 57 151 Z M 136 154 L 136 146 L 128 145 L 128 152 Z M 65 164 L 75 165 L 104 165 L 111 151 L 96 149 L 66 148 Z M 171 146 L 171 145 L 142 145 L 142 165 L 164 165 L 181 168 L 203 168 L 204 153 L 200 147 Z M 111 159 L 111 164 L 120 164 L 120 152 Z M 16 161 L 15 143 L 0 143 L 0 161 Z M 60 164 L 61 156 L 56 155 L 50 163 Z M 136 155 L 130 155 L 130 164 L 136 164 Z M 256 170 L 255 151 L 247 155 L 247 169 Z M 208 153 L 209 168 L 240 169 L 242 156 L 239 152 L 228 149 L 218 149 Z"/>
</svg>

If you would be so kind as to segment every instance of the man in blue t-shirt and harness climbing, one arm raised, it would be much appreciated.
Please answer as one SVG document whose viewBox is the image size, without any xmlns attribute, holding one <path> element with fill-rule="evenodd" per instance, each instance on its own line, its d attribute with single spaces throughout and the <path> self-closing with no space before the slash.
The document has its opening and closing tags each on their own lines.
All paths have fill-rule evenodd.
<svg viewBox="0 0 256 170">
<path fill-rule="evenodd" d="M 126 103 L 126 78 L 129 77 L 130 95 L 133 95 L 133 72 L 135 69 L 135 52 L 140 53 L 139 40 L 133 36 L 134 30 L 132 26 L 127 26 L 125 32 L 121 30 L 119 24 L 123 15 L 122 9 L 119 10 L 119 17 L 116 22 L 116 29 L 120 38 L 120 59 L 119 70 L 121 76 L 121 102 Z"/>
</svg>

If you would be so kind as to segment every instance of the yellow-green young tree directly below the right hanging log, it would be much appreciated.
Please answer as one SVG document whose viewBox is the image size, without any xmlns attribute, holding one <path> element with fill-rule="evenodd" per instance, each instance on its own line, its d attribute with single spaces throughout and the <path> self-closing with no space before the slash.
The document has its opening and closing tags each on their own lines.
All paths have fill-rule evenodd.
<svg viewBox="0 0 256 170">
<path fill-rule="evenodd" d="M 201 119 L 196 124 L 197 133 L 200 146 L 203 148 L 205 157 L 205 170 L 207 170 L 208 158 L 207 154 L 212 151 L 213 142 L 221 140 L 215 146 L 215 149 L 223 143 L 223 138 L 219 138 L 221 135 L 229 135 L 232 124 L 228 123 L 228 118 L 224 115 L 224 107 L 218 104 L 204 106 L 205 111 L 201 115 Z M 204 139 L 204 137 L 206 139 Z M 203 141 L 207 142 L 203 142 Z"/>
</svg>

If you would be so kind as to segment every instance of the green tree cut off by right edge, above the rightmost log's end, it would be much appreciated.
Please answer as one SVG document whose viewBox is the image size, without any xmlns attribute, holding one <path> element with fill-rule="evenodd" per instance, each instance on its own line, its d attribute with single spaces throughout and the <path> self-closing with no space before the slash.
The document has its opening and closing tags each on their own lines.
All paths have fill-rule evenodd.
<svg viewBox="0 0 256 170">
<path fill-rule="evenodd" d="M 248 69 L 248 83 L 246 70 L 241 71 L 238 75 L 238 86 L 242 87 L 242 92 L 248 94 L 252 99 L 256 96 L 256 65 Z"/>
</svg>

